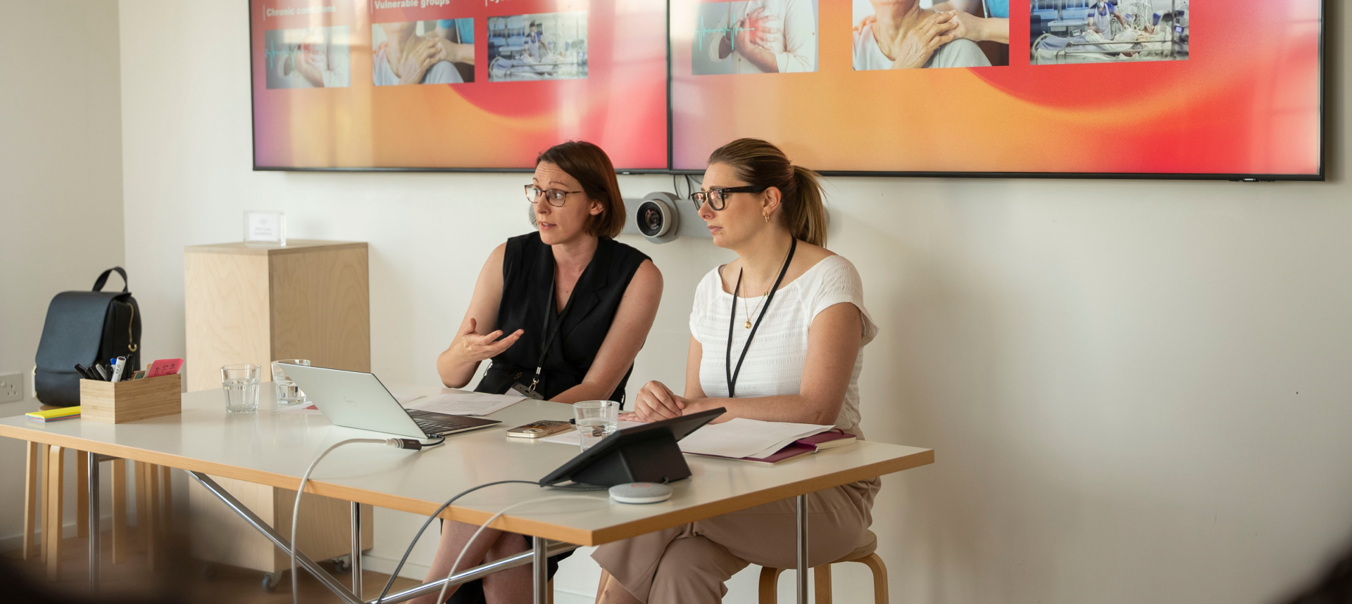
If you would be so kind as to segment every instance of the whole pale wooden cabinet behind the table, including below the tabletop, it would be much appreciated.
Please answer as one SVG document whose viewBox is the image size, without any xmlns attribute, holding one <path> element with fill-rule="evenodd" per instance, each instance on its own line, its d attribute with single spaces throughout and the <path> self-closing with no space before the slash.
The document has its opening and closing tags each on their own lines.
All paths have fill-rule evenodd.
<svg viewBox="0 0 1352 604">
<path fill-rule="evenodd" d="M 315 366 L 370 370 L 370 278 L 366 243 L 291 239 L 285 247 L 189 246 L 184 258 L 189 391 L 220 388 L 220 366 L 307 358 Z M 266 388 L 266 386 L 265 386 Z M 222 408 L 224 403 L 222 403 Z M 216 481 L 283 535 L 295 490 Z M 189 485 L 193 557 L 269 573 L 289 558 L 196 482 Z M 362 549 L 372 508 L 361 507 Z M 314 559 L 347 554 L 350 504 L 306 495 L 296 540 Z"/>
</svg>

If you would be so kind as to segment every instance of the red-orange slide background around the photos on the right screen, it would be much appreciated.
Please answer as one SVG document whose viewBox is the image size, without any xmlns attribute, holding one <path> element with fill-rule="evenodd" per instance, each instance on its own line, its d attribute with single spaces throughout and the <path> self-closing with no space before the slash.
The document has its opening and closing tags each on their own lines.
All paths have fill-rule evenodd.
<svg viewBox="0 0 1352 604">
<path fill-rule="evenodd" d="M 818 72 L 692 76 L 671 1 L 672 166 L 738 136 L 830 172 L 1320 174 L 1321 0 L 1194 0 L 1186 61 L 854 72 L 850 3 L 821 0 Z"/>
</svg>

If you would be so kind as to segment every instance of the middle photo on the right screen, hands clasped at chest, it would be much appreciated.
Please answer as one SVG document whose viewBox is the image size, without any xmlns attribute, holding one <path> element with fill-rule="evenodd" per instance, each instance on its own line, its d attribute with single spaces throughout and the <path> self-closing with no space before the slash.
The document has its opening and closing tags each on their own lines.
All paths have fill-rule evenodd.
<svg viewBox="0 0 1352 604">
<path fill-rule="evenodd" d="M 1009 0 L 853 0 L 854 70 L 1010 64 Z"/>
</svg>

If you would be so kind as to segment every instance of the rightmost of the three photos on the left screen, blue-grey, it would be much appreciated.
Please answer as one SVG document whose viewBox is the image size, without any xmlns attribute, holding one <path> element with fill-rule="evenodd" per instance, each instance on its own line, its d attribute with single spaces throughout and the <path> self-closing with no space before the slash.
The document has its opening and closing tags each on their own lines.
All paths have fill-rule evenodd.
<svg viewBox="0 0 1352 604">
<path fill-rule="evenodd" d="M 488 81 L 587 77 L 587 12 L 488 18 Z"/>
</svg>

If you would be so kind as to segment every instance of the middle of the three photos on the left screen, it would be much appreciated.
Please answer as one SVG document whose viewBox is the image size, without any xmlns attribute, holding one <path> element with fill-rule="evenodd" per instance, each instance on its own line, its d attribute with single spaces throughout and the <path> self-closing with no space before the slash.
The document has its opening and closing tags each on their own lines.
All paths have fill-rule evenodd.
<svg viewBox="0 0 1352 604">
<path fill-rule="evenodd" d="M 370 76 L 377 86 L 475 81 L 475 20 L 372 24 Z"/>
</svg>

